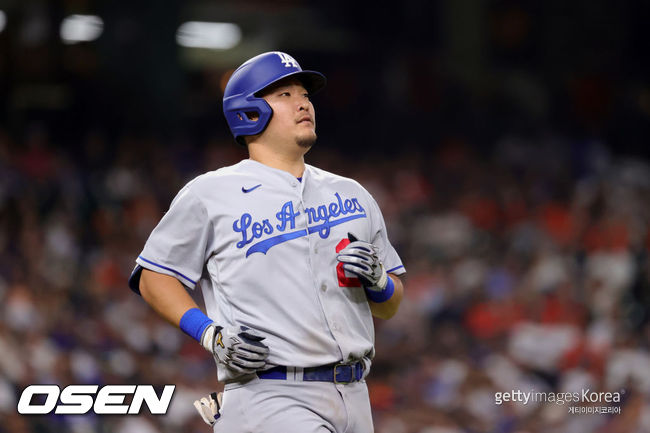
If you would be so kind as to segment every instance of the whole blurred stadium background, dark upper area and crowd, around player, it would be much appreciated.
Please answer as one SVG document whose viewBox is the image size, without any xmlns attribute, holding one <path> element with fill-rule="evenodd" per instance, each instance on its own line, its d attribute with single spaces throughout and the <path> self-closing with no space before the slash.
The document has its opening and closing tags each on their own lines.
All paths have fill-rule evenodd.
<svg viewBox="0 0 650 433">
<path fill-rule="evenodd" d="M 382 4 L 0 1 L 0 432 L 209 431 L 211 359 L 126 279 L 176 191 L 245 157 L 221 89 L 273 49 L 328 77 L 307 162 L 373 193 L 408 268 L 376 431 L 650 431 L 648 3 Z M 99 37 L 62 41 L 73 14 Z M 186 21 L 241 41 L 179 46 Z M 164 417 L 23 417 L 32 383 L 177 391 Z M 582 388 L 622 413 L 494 400 Z"/>
</svg>

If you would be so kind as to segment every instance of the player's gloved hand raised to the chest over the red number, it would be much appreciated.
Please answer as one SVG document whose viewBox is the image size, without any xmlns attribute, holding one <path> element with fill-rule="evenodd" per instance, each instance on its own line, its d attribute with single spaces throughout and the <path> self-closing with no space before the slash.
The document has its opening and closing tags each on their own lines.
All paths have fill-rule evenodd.
<svg viewBox="0 0 650 433">
<path fill-rule="evenodd" d="M 388 274 L 379 260 L 377 247 L 369 242 L 360 241 L 348 233 L 350 244 L 343 248 L 336 259 L 343 263 L 343 269 L 359 278 L 367 289 L 381 292 L 388 284 Z"/>
</svg>

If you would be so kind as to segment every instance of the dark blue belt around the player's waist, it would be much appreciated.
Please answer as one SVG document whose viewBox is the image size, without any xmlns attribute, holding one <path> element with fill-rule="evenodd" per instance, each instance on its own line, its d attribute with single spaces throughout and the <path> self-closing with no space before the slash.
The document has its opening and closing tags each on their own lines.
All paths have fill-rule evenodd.
<svg viewBox="0 0 650 433">
<path fill-rule="evenodd" d="M 336 363 L 320 367 L 285 367 L 279 365 L 265 371 L 258 371 L 260 379 L 302 380 L 307 382 L 358 382 L 363 377 L 363 363 L 360 361 L 350 364 Z"/>
</svg>

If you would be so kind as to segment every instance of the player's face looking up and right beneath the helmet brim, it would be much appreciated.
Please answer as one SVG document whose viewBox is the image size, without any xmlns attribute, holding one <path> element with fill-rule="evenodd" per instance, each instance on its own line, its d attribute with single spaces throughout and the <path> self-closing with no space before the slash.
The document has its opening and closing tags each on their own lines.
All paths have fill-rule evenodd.
<svg viewBox="0 0 650 433">
<path fill-rule="evenodd" d="M 262 96 L 273 109 L 264 136 L 310 148 L 316 141 L 316 116 L 309 94 L 296 79 L 280 81 Z"/>
</svg>

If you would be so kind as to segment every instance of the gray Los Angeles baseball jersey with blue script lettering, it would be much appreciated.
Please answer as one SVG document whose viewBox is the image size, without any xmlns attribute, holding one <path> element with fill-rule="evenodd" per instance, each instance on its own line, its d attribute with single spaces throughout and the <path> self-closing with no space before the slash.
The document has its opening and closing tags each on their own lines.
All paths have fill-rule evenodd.
<svg viewBox="0 0 650 433">
<path fill-rule="evenodd" d="M 217 324 L 262 332 L 268 363 L 312 367 L 373 354 L 364 290 L 336 260 L 348 232 L 405 272 L 358 182 L 310 165 L 299 180 L 247 159 L 188 183 L 136 261 L 198 285 Z M 229 378 L 221 365 L 218 377 Z"/>
</svg>

